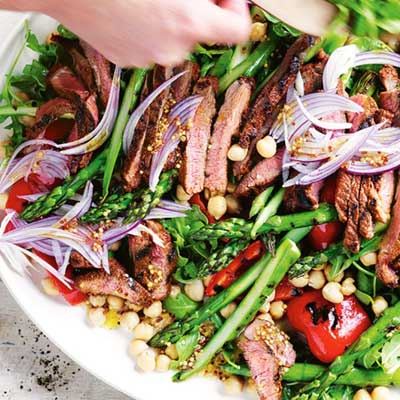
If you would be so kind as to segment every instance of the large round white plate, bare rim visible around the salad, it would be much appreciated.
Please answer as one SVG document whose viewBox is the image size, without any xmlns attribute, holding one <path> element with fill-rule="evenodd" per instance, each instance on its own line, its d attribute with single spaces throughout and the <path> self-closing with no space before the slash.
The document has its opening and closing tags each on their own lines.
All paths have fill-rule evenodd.
<svg viewBox="0 0 400 400">
<path fill-rule="evenodd" d="M 0 87 L 23 42 L 26 19 L 41 39 L 45 39 L 56 26 L 53 20 L 41 15 L 0 11 Z M 32 56 L 33 53 L 27 51 L 19 68 Z M 5 134 L 7 132 L 0 128 L 0 139 Z M 20 276 L 1 257 L 0 278 L 22 310 L 53 343 L 87 371 L 128 396 L 136 400 L 227 399 L 221 383 L 215 379 L 193 378 L 183 383 L 172 383 L 172 374 L 137 372 L 127 353 L 129 334 L 122 330 L 90 327 L 83 307 L 70 307 L 61 300 L 44 295 L 38 285 L 38 275 Z M 248 398 L 256 397 L 248 395 Z"/>
</svg>

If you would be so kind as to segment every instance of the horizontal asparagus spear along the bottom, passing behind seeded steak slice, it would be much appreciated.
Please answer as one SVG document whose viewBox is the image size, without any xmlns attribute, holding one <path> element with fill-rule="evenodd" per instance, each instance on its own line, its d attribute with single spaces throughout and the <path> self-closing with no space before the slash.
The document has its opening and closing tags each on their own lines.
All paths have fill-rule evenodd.
<svg viewBox="0 0 400 400">
<path fill-rule="evenodd" d="M 250 369 L 247 365 L 239 365 L 239 368 L 235 368 L 233 365 L 226 364 L 222 369 L 231 375 L 240 375 L 245 378 L 251 377 Z M 322 365 L 296 363 L 283 375 L 283 380 L 288 383 L 312 382 L 324 372 L 325 368 Z M 394 374 L 388 374 L 382 369 L 353 368 L 341 375 L 335 384 L 357 387 L 398 386 L 400 384 L 400 369 Z"/>
</svg>

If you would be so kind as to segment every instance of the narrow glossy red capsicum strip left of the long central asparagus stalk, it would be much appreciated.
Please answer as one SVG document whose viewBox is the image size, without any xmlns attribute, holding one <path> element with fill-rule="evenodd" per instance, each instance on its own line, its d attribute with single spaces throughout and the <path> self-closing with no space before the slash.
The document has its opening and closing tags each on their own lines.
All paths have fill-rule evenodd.
<svg viewBox="0 0 400 400">
<path fill-rule="evenodd" d="M 261 240 L 250 244 L 245 250 L 240 252 L 226 268 L 212 275 L 206 287 L 206 296 L 214 296 L 217 294 L 218 289 L 226 289 L 229 287 L 246 268 L 259 260 L 264 253 L 265 246 Z"/>
</svg>

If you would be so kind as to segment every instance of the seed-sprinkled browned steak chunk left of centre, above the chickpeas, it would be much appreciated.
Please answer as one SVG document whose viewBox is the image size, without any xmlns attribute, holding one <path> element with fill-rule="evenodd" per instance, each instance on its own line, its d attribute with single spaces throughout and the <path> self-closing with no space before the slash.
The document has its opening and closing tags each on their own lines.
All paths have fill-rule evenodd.
<svg viewBox="0 0 400 400">
<path fill-rule="evenodd" d="M 176 253 L 169 233 L 158 222 L 146 225 L 163 241 L 164 247 L 153 243 L 151 236 L 129 238 L 129 250 L 134 265 L 134 277 L 150 293 L 153 300 L 163 300 L 169 293 L 169 277 L 176 267 Z"/>
</svg>

